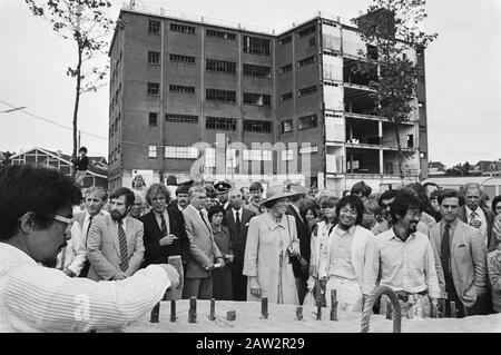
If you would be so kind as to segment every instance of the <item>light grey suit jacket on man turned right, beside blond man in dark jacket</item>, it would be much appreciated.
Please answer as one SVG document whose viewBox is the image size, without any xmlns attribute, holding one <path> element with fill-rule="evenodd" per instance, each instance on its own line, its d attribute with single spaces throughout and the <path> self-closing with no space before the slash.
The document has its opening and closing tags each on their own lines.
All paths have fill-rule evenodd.
<svg viewBox="0 0 501 355">
<path fill-rule="evenodd" d="M 207 211 L 202 210 L 205 221 L 198 210 L 191 205 L 185 208 L 183 216 L 185 217 L 186 235 L 189 239 L 188 263 L 186 267 L 186 278 L 205 278 L 212 275 L 212 272 L 204 269 L 206 266 L 213 266 L 217 257 L 222 257 L 219 248 L 214 240 L 210 221 Z"/>
</svg>

